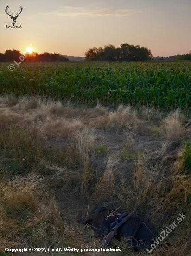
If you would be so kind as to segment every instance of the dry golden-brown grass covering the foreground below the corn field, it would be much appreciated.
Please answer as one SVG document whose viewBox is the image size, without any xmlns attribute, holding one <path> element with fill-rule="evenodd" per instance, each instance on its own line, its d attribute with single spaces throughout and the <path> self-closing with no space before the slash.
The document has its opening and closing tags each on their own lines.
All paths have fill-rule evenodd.
<svg viewBox="0 0 191 256">
<path fill-rule="evenodd" d="M 87 214 L 87 209 L 90 213 L 99 206 L 131 210 L 148 198 L 147 205 L 141 208 L 158 234 L 179 213 L 186 215 L 157 245 L 153 255 L 190 255 L 191 173 L 182 158 L 186 148 L 178 149 L 178 158 L 170 165 L 137 153 L 132 172 L 120 168 L 120 152 L 109 153 L 104 157 L 106 168 L 98 172 L 92 163 L 98 158 L 100 146 L 106 143 L 101 129 L 109 132 L 120 127 L 127 133 L 128 152 L 133 152 L 136 143 L 132 133 L 155 136 L 159 130 L 162 143 L 158 156 L 163 160 L 169 157 L 169 143 L 181 141 L 191 132 L 189 120 L 179 109 L 163 118 L 163 113 L 155 109 L 143 108 L 138 113 L 122 105 L 112 111 L 99 103 L 88 109 L 37 96 L 0 98 L 2 253 L 5 247 L 22 246 L 100 248 L 97 239 L 84 243 L 84 237 L 92 231 L 76 223 L 79 212 Z M 112 255 L 140 255 L 125 246 L 125 241 L 114 239 L 114 247 L 118 246 L 121 252 Z M 90 254 L 95 253 L 83 253 Z"/>
</svg>

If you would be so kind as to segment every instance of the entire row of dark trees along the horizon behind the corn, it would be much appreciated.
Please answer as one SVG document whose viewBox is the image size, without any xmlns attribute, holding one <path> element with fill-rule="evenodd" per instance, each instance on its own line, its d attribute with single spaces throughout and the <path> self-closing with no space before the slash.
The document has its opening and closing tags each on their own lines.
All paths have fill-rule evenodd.
<svg viewBox="0 0 191 256">
<path fill-rule="evenodd" d="M 18 50 L 6 50 L 4 54 L 0 53 L 0 62 L 20 61 L 21 52 Z M 191 60 L 191 51 L 188 54 L 175 55 L 169 57 L 153 57 L 151 50 L 139 45 L 121 44 L 119 48 L 108 44 L 107 46 L 96 47 L 85 52 L 84 61 L 178 61 Z M 70 61 L 69 58 L 58 53 L 38 54 L 32 52 L 25 53 L 24 62 L 53 62 L 53 61 Z"/>
</svg>

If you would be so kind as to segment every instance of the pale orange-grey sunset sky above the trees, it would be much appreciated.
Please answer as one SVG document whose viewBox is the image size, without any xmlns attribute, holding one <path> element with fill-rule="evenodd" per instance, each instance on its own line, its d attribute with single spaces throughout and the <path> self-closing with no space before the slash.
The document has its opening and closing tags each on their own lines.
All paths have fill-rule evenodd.
<svg viewBox="0 0 191 256">
<path fill-rule="evenodd" d="M 19 13 L 15 25 L 6 14 Z M 93 47 L 134 44 L 154 57 L 191 50 L 191 0 L 0 0 L 0 52 L 81 56 Z"/>
</svg>

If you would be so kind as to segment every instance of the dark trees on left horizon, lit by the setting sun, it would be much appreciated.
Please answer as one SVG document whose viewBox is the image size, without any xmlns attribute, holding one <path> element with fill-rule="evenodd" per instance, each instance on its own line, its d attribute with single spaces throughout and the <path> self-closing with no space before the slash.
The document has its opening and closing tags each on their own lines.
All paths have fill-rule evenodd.
<svg viewBox="0 0 191 256">
<path fill-rule="evenodd" d="M 20 61 L 20 56 L 22 56 L 18 50 L 6 50 L 4 54 L 0 53 L 0 62 L 9 62 L 9 61 Z M 32 52 L 31 54 L 25 53 L 25 62 L 52 62 L 52 61 L 69 61 L 67 57 L 64 57 L 62 54 L 57 53 L 43 53 L 38 54 Z"/>
</svg>

